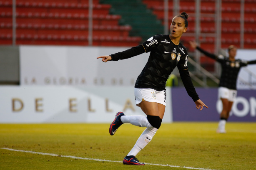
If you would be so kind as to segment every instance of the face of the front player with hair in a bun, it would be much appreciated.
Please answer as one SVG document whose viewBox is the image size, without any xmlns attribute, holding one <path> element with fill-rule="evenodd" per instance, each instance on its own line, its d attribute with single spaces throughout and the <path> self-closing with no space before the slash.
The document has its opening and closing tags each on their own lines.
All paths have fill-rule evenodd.
<svg viewBox="0 0 256 170">
<path fill-rule="evenodd" d="M 185 27 L 185 20 L 182 17 L 174 17 L 171 22 L 170 30 L 171 37 L 181 37 L 181 35 L 187 31 L 187 28 Z"/>
</svg>

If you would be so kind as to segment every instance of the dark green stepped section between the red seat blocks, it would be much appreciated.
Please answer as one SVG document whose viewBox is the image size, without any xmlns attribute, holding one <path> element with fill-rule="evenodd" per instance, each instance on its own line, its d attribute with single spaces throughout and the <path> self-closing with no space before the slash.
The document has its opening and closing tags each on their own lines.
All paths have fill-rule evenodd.
<svg viewBox="0 0 256 170">
<path fill-rule="evenodd" d="M 131 25 L 130 36 L 141 36 L 142 42 L 156 34 L 163 34 L 161 21 L 146 5 L 138 0 L 100 0 L 101 4 L 111 4 L 110 12 L 121 15 L 121 25 Z"/>
</svg>

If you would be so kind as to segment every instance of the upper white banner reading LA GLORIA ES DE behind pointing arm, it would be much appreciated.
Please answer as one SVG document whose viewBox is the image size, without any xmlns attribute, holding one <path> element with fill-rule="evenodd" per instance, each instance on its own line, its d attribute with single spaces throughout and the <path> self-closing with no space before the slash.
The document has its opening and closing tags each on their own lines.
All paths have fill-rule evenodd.
<svg viewBox="0 0 256 170">
<path fill-rule="evenodd" d="M 20 84 L 134 86 L 149 54 L 118 62 L 96 59 L 129 48 L 20 46 Z"/>
</svg>

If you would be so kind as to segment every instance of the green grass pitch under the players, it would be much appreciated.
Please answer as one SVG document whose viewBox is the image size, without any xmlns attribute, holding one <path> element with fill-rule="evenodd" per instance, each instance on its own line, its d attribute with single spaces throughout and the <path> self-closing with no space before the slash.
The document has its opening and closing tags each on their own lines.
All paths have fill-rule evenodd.
<svg viewBox="0 0 256 170">
<path fill-rule="evenodd" d="M 256 170 L 256 123 L 228 122 L 226 134 L 217 125 L 163 123 L 136 156 L 146 165 L 134 166 L 120 161 L 145 128 L 124 124 L 110 136 L 109 124 L 0 124 L 0 170 Z"/>
</svg>

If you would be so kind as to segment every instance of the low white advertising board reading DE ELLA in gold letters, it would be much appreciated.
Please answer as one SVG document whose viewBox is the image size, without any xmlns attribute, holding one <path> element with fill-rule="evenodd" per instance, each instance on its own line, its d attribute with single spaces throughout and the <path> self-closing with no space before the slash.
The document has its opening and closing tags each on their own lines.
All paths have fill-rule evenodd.
<svg viewBox="0 0 256 170">
<path fill-rule="evenodd" d="M 166 90 L 163 122 L 172 122 Z M 0 94 L 0 123 L 111 123 L 118 111 L 146 116 L 131 86 L 0 86 Z"/>
</svg>

